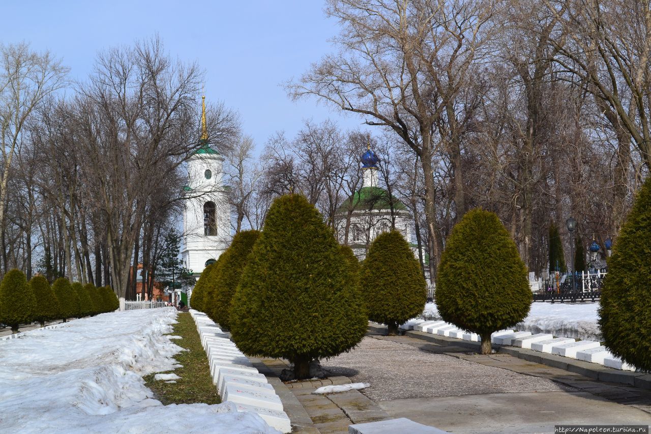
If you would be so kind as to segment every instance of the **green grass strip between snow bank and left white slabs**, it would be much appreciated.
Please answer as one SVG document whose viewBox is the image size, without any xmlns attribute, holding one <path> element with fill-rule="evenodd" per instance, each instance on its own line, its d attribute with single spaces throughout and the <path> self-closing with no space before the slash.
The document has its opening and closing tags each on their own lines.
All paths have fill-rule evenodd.
<svg viewBox="0 0 651 434">
<path fill-rule="evenodd" d="M 183 368 L 167 371 L 167 373 L 175 373 L 181 378 L 176 380 L 176 383 L 165 383 L 165 381 L 154 381 L 155 374 L 146 375 L 147 387 L 154 392 L 156 399 L 163 405 L 219 404 L 221 399 L 217 394 L 217 387 L 212 384 L 208 357 L 201 346 L 201 338 L 195 322 L 189 313 L 180 313 L 177 321 L 172 334 L 183 339 L 174 340 L 174 343 L 188 351 L 182 351 L 174 356 Z"/>
</svg>

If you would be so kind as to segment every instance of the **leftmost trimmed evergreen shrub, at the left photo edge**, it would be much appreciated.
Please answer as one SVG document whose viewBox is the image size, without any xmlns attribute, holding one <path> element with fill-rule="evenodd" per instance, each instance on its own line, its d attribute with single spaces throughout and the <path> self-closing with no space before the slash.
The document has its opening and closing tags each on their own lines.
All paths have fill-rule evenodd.
<svg viewBox="0 0 651 434">
<path fill-rule="evenodd" d="M 36 301 L 32 289 L 27 284 L 25 273 L 13 268 L 0 282 L 0 323 L 11 327 L 18 333 L 21 324 L 33 321 Z"/>
</svg>

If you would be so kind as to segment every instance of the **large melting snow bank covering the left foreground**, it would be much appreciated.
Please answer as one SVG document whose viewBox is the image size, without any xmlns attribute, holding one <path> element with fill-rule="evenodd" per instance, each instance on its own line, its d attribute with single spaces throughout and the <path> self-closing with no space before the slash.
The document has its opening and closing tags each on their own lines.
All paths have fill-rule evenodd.
<svg viewBox="0 0 651 434">
<path fill-rule="evenodd" d="M 232 403 L 162 405 L 143 375 L 174 369 L 174 308 L 104 313 L 0 341 L 0 426 L 20 433 L 275 433 Z"/>
</svg>

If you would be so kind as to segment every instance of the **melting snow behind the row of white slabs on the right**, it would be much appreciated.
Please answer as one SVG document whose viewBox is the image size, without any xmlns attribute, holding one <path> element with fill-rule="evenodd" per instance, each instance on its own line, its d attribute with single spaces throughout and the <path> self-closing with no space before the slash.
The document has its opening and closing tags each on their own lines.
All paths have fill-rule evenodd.
<svg viewBox="0 0 651 434">
<path fill-rule="evenodd" d="M 568 304 L 541 303 L 531 304 L 529 315 L 518 325 L 516 330 L 532 333 L 551 333 L 590 341 L 602 341 L 602 333 L 597 323 L 599 303 Z M 436 304 L 427 303 L 422 314 L 424 319 L 442 319 Z"/>
</svg>

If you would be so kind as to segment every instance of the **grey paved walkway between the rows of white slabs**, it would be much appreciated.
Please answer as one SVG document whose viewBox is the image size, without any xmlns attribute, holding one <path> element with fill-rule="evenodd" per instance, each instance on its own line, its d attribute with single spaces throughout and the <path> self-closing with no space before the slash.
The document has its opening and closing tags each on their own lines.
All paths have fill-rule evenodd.
<svg viewBox="0 0 651 434">
<path fill-rule="evenodd" d="M 324 360 L 329 379 L 281 383 L 283 360 L 258 361 L 282 389 L 301 433 L 347 433 L 349 424 L 406 417 L 453 433 L 553 433 L 555 424 L 651 424 L 651 392 L 595 381 L 508 354 L 480 356 L 452 343 L 381 336 Z M 273 377 L 276 377 L 275 379 Z M 370 383 L 326 396 L 323 384 Z M 283 396 L 284 395 L 284 396 Z M 286 405 L 287 407 L 287 405 Z"/>
</svg>

